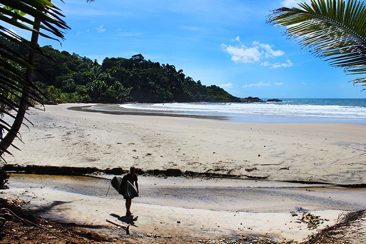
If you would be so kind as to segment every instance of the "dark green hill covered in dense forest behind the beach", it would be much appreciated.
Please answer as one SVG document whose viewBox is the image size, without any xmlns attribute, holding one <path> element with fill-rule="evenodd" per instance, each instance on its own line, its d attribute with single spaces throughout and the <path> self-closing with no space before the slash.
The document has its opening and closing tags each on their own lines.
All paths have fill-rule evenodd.
<svg viewBox="0 0 366 244">
<path fill-rule="evenodd" d="M 26 55 L 25 49 L 11 48 Z M 38 56 L 36 66 L 48 75 L 36 72 L 33 80 L 52 103 L 238 101 L 218 86 L 204 86 L 186 76 L 182 69 L 177 71 L 174 65 L 146 60 L 141 54 L 131 58 L 105 58 L 100 65 L 96 60 L 51 46 L 41 49 L 53 62 Z"/>
</svg>

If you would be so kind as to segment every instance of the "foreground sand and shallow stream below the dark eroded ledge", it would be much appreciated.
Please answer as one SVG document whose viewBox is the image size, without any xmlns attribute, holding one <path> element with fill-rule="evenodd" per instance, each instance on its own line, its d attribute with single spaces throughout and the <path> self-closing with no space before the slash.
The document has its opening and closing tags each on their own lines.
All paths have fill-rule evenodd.
<svg viewBox="0 0 366 244">
<path fill-rule="evenodd" d="M 342 212 L 366 208 L 365 189 L 253 182 L 140 176 L 141 196 L 133 200 L 131 219 L 123 217 L 121 195 L 110 189 L 105 196 L 106 179 L 12 174 L 10 189 L 2 196 L 29 201 L 27 209 L 49 220 L 98 226 L 110 235 L 113 231 L 103 229 L 111 227 L 105 219 L 133 223 L 131 229 L 135 237 L 142 235 L 141 243 L 149 242 L 146 233 L 195 241 L 237 234 L 301 241 L 316 229 L 297 223 L 291 213 L 320 215 L 328 219 L 322 228 Z"/>
</svg>

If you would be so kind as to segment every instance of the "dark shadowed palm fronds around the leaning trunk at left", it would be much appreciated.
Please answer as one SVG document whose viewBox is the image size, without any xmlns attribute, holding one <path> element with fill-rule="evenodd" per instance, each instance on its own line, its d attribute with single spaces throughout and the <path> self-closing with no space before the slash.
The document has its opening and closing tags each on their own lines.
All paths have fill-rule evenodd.
<svg viewBox="0 0 366 244">
<path fill-rule="evenodd" d="M 38 47 L 38 36 L 62 40 L 64 31 L 69 29 L 63 17 L 60 9 L 49 0 L 0 0 L 0 36 L 29 50 L 28 57 L 24 57 L 6 44 L 0 44 L 0 113 L 14 120 L 10 125 L 0 119 L 1 126 L 7 131 L 0 140 L 0 156 L 4 152 L 10 153 L 7 148 L 14 146 L 12 142 L 15 138 L 21 140 L 19 129 L 26 108 L 33 106 L 34 102 L 42 104 L 45 98 L 32 82 L 33 71 L 42 72 L 34 65 L 35 55 L 45 55 Z M 11 27 L 31 32 L 32 40 L 16 34 L 10 30 Z M 15 111 L 16 115 L 10 110 Z"/>
</svg>

